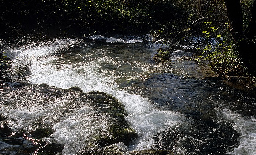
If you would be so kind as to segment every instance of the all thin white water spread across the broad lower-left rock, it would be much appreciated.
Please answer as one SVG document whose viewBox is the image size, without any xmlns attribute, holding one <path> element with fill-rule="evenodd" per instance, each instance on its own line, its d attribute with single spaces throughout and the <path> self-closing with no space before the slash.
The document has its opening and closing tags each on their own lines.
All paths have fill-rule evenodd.
<svg viewBox="0 0 256 155">
<path fill-rule="evenodd" d="M 33 126 L 35 122 L 53 125 L 55 132 L 51 137 L 65 145 L 62 153 L 75 155 L 91 137 L 98 134 L 98 131 L 107 128 L 109 118 L 103 115 L 95 117 L 93 114 L 95 109 L 86 105 L 67 109 L 65 112 L 69 111 L 70 114 L 65 115 L 63 110 L 68 107 L 65 103 L 65 98 L 59 98 L 49 105 L 40 104 L 16 109 L 5 106 L 0 112 L 10 119 L 8 126 L 12 130 L 22 130 Z M 27 130 L 33 129 L 27 128 Z"/>
</svg>

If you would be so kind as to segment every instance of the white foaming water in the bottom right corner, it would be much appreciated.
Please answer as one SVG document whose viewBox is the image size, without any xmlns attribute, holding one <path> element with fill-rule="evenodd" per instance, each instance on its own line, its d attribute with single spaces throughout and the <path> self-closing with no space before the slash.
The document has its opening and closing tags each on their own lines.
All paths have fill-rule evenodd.
<svg viewBox="0 0 256 155">
<path fill-rule="evenodd" d="M 233 128 L 241 133 L 238 138 L 240 145 L 234 150 L 228 150 L 230 155 L 256 155 L 256 118 L 254 116 L 244 117 L 229 109 L 215 107 L 219 120 L 225 119 L 230 122 Z"/>
</svg>

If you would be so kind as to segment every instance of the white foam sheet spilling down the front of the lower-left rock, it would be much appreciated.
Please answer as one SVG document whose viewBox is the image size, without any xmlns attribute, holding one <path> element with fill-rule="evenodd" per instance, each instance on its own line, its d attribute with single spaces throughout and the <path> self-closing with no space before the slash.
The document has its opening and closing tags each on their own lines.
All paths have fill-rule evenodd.
<svg viewBox="0 0 256 155">
<path fill-rule="evenodd" d="M 94 111 L 88 107 L 78 107 L 76 112 L 54 125 L 52 137 L 61 144 L 65 144 L 62 151 L 65 155 L 75 155 L 84 143 L 106 128 L 107 117 L 90 114 Z M 90 117 L 91 116 L 91 117 Z"/>
</svg>

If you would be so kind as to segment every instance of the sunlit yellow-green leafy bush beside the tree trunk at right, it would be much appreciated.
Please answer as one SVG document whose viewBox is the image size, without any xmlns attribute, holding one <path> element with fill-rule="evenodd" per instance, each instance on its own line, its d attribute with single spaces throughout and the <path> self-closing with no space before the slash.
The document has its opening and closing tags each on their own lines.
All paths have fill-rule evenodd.
<svg viewBox="0 0 256 155">
<path fill-rule="evenodd" d="M 202 39 L 206 40 L 206 45 L 201 49 L 202 55 L 197 60 L 211 67 L 214 73 L 225 75 L 244 73 L 244 68 L 235 53 L 234 43 L 228 38 L 229 34 L 219 34 L 218 28 L 212 26 L 212 22 L 204 22 L 204 24 L 207 28 L 202 32 Z"/>
</svg>

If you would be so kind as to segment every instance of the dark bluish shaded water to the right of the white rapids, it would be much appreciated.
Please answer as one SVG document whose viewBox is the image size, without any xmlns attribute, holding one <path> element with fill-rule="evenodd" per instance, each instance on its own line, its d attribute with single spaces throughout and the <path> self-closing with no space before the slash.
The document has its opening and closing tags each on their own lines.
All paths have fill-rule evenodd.
<svg viewBox="0 0 256 155">
<path fill-rule="evenodd" d="M 216 107 L 256 116 L 256 93 L 230 88 L 221 79 L 154 73 L 147 80 L 130 80 L 121 86 L 149 98 L 159 109 L 177 111 L 193 120 L 189 128 L 170 128 L 157 135 L 160 148 L 182 145 L 187 154 L 226 154 L 239 146 L 241 133 L 225 118 L 219 120 Z"/>
</svg>

